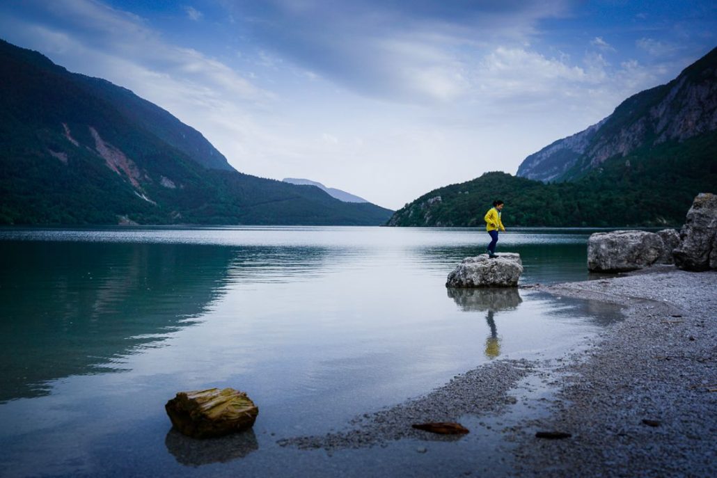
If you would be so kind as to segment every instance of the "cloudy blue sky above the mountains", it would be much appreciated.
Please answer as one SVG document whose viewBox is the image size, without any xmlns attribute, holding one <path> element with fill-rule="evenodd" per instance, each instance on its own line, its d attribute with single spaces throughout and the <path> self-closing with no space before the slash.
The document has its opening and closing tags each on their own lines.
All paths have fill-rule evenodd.
<svg viewBox="0 0 717 478">
<path fill-rule="evenodd" d="M 133 90 L 238 171 L 390 209 L 514 174 L 716 32 L 713 0 L 0 0 L 1 38 Z"/>
</svg>

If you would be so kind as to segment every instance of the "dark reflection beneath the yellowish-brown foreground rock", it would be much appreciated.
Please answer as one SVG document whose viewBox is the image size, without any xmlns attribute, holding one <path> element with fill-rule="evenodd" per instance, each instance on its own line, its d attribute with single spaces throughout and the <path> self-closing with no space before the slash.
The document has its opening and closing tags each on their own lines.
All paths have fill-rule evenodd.
<svg viewBox="0 0 717 478">
<path fill-rule="evenodd" d="M 222 438 L 197 440 L 184 436 L 173 427 L 168 431 L 164 444 L 176 461 L 186 467 L 227 463 L 259 449 L 257 436 L 252 429 Z"/>
</svg>

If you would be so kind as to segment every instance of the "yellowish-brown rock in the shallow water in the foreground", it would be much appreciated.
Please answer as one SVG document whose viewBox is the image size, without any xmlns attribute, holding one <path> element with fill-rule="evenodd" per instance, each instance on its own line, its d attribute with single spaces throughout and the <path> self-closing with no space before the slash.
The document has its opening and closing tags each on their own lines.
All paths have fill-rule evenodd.
<svg viewBox="0 0 717 478">
<path fill-rule="evenodd" d="M 259 408 L 234 388 L 179 392 L 164 406 L 174 427 L 193 438 L 212 438 L 254 425 Z"/>
</svg>

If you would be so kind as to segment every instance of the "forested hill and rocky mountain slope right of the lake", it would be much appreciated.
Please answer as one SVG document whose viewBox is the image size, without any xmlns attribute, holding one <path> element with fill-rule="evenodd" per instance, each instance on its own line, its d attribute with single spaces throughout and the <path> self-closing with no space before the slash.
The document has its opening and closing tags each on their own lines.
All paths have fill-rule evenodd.
<svg viewBox="0 0 717 478">
<path fill-rule="evenodd" d="M 679 226 L 694 197 L 716 189 L 714 49 L 668 85 L 528 156 L 518 176 L 485 173 L 435 189 L 396 211 L 389 225 L 484 226 L 485 211 L 501 199 L 507 227 Z"/>
</svg>

